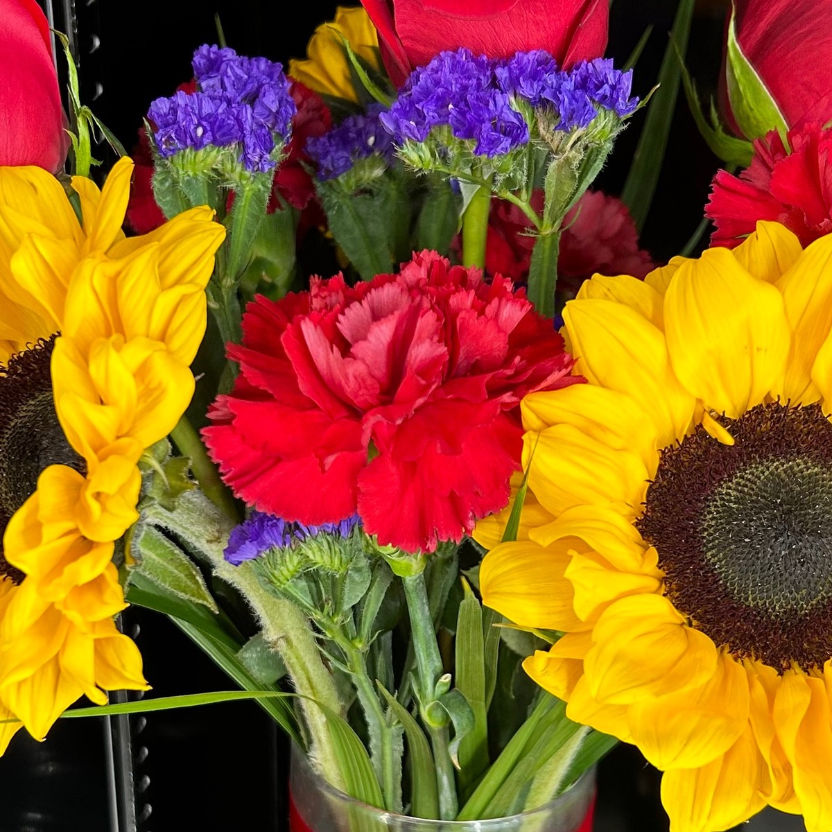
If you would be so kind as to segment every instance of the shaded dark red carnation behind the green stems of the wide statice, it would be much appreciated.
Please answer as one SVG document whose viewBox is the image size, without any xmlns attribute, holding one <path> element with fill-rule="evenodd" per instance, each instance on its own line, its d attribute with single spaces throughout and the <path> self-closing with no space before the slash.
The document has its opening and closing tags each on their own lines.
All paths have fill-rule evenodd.
<svg viewBox="0 0 832 832">
<path fill-rule="evenodd" d="M 542 191 L 532 207 L 542 210 Z M 512 280 L 526 280 L 532 258 L 532 226 L 522 210 L 494 200 L 488 220 L 485 268 Z M 626 205 L 616 196 L 587 191 L 563 220 L 557 258 L 557 287 L 574 296 L 596 273 L 644 277 L 653 268 L 650 255 L 638 246 L 638 231 Z"/>
</svg>

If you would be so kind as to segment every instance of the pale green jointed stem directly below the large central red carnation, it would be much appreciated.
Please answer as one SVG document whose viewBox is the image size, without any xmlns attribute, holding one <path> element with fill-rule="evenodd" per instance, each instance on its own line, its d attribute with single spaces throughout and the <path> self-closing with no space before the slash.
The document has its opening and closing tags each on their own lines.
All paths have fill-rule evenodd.
<svg viewBox="0 0 832 832">
<path fill-rule="evenodd" d="M 490 194 L 489 194 L 490 198 Z M 464 244 L 463 244 L 464 245 Z M 430 614 L 428 589 L 424 572 L 402 578 L 404 597 L 407 600 L 410 630 L 416 651 L 418 669 L 419 710 L 423 716 L 428 706 L 436 699 L 436 685 L 443 675 L 442 656 L 436 640 L 433 618 Z M 432 726 L 425 721 L 433 747 L 433 761 L 436 764 L 436 785 L 439 795 L 439 816 L 441 820 L 453 820 L 459 810 L 453 763 L 451 761 L 448 726 Z"/>
</svg>

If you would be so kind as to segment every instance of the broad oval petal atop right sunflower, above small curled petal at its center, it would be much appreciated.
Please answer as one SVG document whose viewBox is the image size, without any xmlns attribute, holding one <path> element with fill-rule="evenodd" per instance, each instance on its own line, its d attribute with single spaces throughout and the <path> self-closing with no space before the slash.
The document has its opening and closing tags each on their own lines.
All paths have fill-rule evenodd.
<svg viewBox="0 0 832 832">
<path fill-rule="evenodd" d="M 687 260 L 665 295 L 676 376 L 706 408 L 737 418 L 782 378 L 790 332 L 780 292 L 727 249 Z"/>
</svg>

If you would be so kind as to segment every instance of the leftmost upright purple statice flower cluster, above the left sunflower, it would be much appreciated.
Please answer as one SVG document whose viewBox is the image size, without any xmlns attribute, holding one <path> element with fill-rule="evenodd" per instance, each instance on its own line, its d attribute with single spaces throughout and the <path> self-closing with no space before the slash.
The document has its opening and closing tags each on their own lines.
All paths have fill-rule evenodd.
<svg viewBox="0 0 832 832">
<path fill-rule="evenodd" d="M 159 155 L 239 147 L 247 171 L 275 167 L 289 141 L 296 107 L 280 63 L 242 57 L 233 49 L 201 46 L 193 59 L 197 92 L 157 98 L 147 113 Z M 275 152 L 276 151 L 276 152 Z"/>
</svg>

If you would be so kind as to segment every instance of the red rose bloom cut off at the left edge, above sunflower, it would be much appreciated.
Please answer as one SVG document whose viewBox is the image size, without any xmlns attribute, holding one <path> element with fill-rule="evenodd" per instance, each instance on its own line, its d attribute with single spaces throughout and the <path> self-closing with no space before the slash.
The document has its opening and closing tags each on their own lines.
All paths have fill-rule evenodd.
<svg viewBox="0 0 832 832">
<path fill-rule="evenodd" d="M 0 0 L 0 165 L 57 173 L 67 156 L 47 18 L 35 0 Z"/>
</svg>

